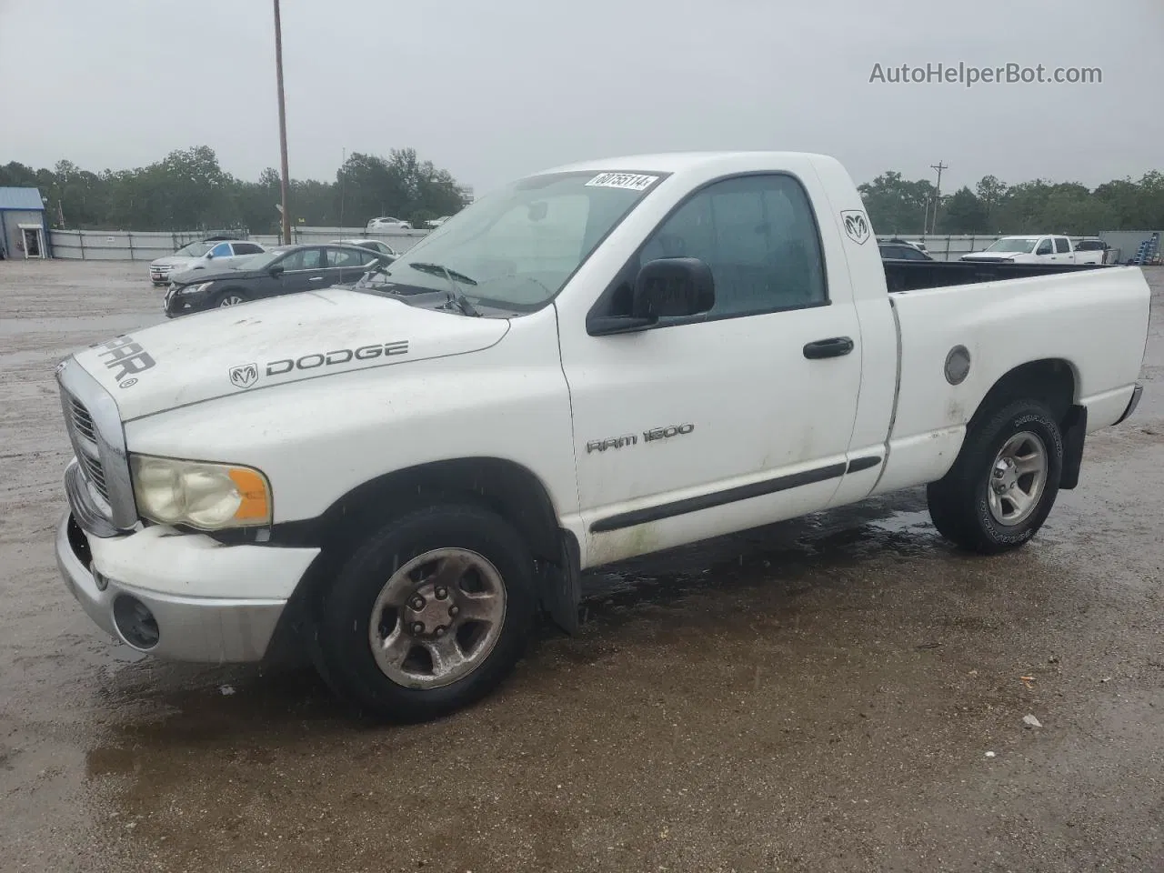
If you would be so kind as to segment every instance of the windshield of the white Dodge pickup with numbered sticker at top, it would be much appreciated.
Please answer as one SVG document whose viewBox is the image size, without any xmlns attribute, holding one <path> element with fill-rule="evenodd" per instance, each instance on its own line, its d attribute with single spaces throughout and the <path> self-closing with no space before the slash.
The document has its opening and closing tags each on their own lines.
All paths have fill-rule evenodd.
<svg viewBox="0 0 1164 873">
<path fill-rule="evenodd" d="M 520 179 L 474 201 L 361 285 L 443 292 L 452 277 L 473 303 L 537 310 L 662 177 L 590 170 Z"/>
</svg>

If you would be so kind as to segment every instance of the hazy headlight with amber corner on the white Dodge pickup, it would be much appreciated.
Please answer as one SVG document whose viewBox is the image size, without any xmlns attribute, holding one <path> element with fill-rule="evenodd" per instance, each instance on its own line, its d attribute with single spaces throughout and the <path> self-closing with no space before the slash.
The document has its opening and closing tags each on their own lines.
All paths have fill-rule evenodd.
<svg viewBox="0 0 1164 873">
<path fill-rule="evenodd" d="M 203 531 L 271 523 L 271 487 L 250 467 L 130 455 L 137 511 Z"/>
</svg>

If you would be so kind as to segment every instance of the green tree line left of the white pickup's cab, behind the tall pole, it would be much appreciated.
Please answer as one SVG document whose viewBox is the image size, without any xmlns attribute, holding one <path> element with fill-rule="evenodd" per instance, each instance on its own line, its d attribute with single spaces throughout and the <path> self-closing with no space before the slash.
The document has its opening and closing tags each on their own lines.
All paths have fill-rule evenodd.
<svg viewBox="0 0 1164 873">
<path fill-rule="evenodd" d="M 171 151 L 133 170 L 83 170 L 71 161 L 34 170 L 15 161 L 0 165 L 0 186 L 35 186 L 48 199 L 52 227 L 101 230 L 223 229 L 278 233 L 279 173 L 268 168 L 258 182 L 226 172 L 207 146 Z M 467 201 L 447 170 L 421 161 L 414 149 L 386 156 L 353 152 L 333 182 L 292 179 L 292 223 L 362 227 L 392 215 L 413 227 L 450 215 Z"/>
</svg>

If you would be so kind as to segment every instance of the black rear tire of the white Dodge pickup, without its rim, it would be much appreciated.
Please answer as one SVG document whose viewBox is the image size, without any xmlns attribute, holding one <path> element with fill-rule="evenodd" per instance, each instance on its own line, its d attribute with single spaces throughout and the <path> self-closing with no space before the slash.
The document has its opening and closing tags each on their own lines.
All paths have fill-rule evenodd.
<svg viewBox="0 0 1164 873">
<path fill-rule="evenodd" d="M 999 521 L 991 509 L 995 459 L 1018 434 L 1035 434 L 1046 454 L 1046 474 L 1034 509 L 1017 524 Z M 950 471 L 927 488 L 930 518 L 943 537 L 980 554 L 1022 546 L 1046 520 L 1059 494 L 1063 434 L 1050 410 L 1034 400 L 1015 400 L 987 412 L 966 434 Z"/>
</svg>

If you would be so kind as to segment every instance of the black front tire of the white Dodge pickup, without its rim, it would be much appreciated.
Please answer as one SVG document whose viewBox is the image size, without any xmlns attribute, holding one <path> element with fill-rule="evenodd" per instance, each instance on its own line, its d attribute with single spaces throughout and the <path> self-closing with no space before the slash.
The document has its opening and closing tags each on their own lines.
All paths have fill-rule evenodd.
<svg viewBox="0 0 1164 873">
<path fill-rule="evenodd" d="M 505 589 L 504 618 L 491 650 L 468 675 L 441 687 L 410 688 L 390 679 L 372 655 L 372 608 L 397 569 L 441 548 L 475 552 L 496 568 Z M 510 674 L 525 651 L 535 606 L 533 556 L 508 521 L 473 505 L 417 510 L 369 538 L 324 592 L 313 634 L 315 666 L 334 691 L 371 716 L 439 718 L 481 700 Z"/>
</svg>

